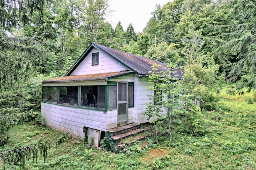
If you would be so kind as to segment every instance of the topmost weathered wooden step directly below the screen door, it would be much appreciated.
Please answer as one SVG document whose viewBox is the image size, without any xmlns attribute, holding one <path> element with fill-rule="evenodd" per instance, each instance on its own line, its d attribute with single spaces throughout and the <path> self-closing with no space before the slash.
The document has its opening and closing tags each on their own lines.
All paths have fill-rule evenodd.
<svg viewBox="0 0 256 170">
<path fill-rule="evenodd" d="M 138 123 L 130 123 L 128 125 L 115 127 L 113 129 L 108 129 L 107 131 L 111 133 L 111 136 L 121 135 L 123 133 L 138 129 L 140 124 Z"/>
</svg>

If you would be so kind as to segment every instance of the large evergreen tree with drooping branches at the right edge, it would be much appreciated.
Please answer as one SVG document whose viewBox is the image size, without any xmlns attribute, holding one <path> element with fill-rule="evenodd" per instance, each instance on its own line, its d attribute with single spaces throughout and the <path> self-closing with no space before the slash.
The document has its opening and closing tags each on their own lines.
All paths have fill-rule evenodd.
<svg viewBox="0 0 256 170">
<path fill-rule="evenodd" d="M 218 38 L 225 55 L 231 55 L 237 62 L 232 66 L 230 80 L 240 80 L 238 88 L 256 89 L 256 2 L 251 0 L 232 0 L 230 25 L 218 25 Z"/>
</svg>

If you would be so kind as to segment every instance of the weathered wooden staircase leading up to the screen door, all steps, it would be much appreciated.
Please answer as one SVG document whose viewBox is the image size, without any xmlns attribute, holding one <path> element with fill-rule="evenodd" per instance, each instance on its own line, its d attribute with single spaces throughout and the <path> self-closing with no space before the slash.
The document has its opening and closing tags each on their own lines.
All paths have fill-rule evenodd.
<svg viewBox="0 0 256 170">
<path fill-rule="evenodd" d="M 138 135 L 138 133 L 143 132 L 144 130 L 145 129 L 140 129 L 140 124 L 131 123 L 121 127 L 108 129 L 107 133 L 110 133 L 111 140 L 116 144 L 114 150 L 122 150 L 126 145 L 144 139 L 146 137 L 145 135 Z M 132 135 L 134 135 L 134 138 L 130 141 L 124 140 L 126 137 L 130 137 Z"/>
</svg>

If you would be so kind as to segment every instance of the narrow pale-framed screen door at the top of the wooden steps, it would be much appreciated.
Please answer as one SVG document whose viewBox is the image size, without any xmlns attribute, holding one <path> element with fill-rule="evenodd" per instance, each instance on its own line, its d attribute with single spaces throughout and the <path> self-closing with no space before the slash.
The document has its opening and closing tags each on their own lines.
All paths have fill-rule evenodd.
<svg viewBox="0 0 256 170">
<path fill-rule="evenodd" d="M 118 82 L 117 88 L 117 121 L 121 123 L 128 120 L 128 82 Z"/>
</svg>

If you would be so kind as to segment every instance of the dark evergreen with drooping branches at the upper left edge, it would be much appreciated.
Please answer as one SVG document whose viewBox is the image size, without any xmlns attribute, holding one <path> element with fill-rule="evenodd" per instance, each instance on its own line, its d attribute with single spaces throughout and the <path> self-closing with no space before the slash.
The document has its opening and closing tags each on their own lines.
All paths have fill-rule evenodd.
<svg viewBox="0 0 256 170">
<path fill-rule="evenodd" d="M 47 42 L 18 36 L 20 28 L 30 24 L 36 14 L 44 14 L 44 1 L 4 0 L 0 6 L 0 91 L 12 89 L 42 72 Z M 14 29 L 16 27 L 16 29 Z"/>
</svg>

